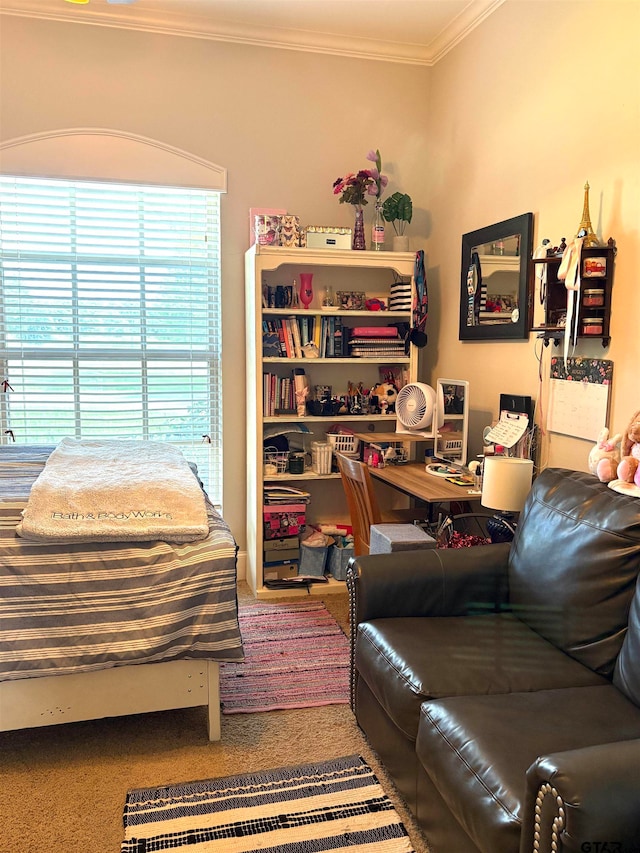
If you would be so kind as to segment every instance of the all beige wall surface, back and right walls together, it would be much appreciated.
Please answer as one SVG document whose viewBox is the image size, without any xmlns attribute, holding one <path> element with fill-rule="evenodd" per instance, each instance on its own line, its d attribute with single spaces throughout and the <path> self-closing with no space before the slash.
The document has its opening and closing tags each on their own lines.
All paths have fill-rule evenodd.
<svg viewBox="0 0 640 853">
<path fill-rule="evenodd" d="M 427 252 L 429 347 L 421 379 L 471 383 L 471 452 L 500 391 L 538 386 L 539 344 L 458 341 L 462 233 L 532 211 L 536 238 L 570 237 L 589 180 L 599 235 L 619 247 L 611 423 L 640 408 L 632 365 L 640 238 L 640 4 L 507 0 L 434 68 L 0 17 L 0 139 L 111 127 L 228 170 L 223 200 L 224 512 L 244 546 L 243 253 L 248 209 L 349 224 L 335 177 L 379 147 L 409 192 L 412 248 Z M 1 163 L 0 163 L 1 166 Z M 167 175 L 171 182 L 171 175 Z M 630 318 L 630 319 L 629 319 Z M 548 373 L 550 349 L 543 353 Z M 553 435 L 543 462 L 585 467 L 589 443 Z"/>
</svg>

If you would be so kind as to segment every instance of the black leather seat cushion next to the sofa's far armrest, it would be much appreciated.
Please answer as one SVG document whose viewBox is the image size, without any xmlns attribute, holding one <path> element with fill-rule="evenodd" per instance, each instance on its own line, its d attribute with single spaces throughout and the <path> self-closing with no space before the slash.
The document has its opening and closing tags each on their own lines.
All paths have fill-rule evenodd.
<svg viewBox="0 0 640 853">
<path fill-rule="evenodd" d="M 606 683 L 509 613 L 363 622 L 355 665 L 412 741 L 425 699 Z"/>
</svg>

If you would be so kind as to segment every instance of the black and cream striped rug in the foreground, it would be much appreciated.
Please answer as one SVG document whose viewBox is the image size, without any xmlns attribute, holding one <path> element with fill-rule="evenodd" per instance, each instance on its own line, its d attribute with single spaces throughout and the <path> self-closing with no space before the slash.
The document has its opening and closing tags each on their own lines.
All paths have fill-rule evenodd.
<svg viewBox="0 0 640 853">
<path fill-rule="evenodd" d="M 121 853 L 413 853 L 358 755 L 262 773 L 129 791 Z"/>
</svg>

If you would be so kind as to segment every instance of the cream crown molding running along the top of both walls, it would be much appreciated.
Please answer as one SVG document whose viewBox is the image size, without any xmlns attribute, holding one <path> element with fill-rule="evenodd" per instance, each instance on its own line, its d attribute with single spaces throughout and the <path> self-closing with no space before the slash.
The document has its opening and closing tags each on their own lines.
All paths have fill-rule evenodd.
<svg viewBox="0 0 640 853">
<path fill-rule="evenodd" d="M 368 39 L 298 28 L 266 27 L 203 15 L 153 12 L 142 5 L 73 6 L 62 0 L 2 0 L 0 13 L 23 18 L 138 30 L 210 41 L 431 66 L 442 59 L 505 0 L 470 0 L 429 44 Z"/>
</svg>

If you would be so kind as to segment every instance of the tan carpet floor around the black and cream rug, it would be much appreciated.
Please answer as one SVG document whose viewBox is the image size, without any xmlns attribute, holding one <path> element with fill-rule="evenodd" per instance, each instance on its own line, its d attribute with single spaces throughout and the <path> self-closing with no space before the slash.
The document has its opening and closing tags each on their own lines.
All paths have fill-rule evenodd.
<svg viewBox="0 0 640 853">
<path fill-rule="evenodd" d="M 238 593 L 241 604 L 254 601 L 245 583 Z M 348 630 L 346 593 L 310 598 Z M 223 715 L 219 742 L 207 739 L 204 708 L 2 732 L 0 853 L 117 853 L 127 791 L 354 754 L 380 780 L 416 853 L 428 853 L 348 705 Z"/>
</svg>

